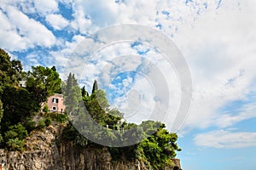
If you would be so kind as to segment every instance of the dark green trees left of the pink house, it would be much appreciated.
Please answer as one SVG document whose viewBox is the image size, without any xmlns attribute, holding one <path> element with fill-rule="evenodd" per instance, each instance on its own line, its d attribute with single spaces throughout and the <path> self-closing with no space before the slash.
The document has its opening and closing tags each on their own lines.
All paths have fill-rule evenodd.
<svg viewBox="0 0 256 170">
<path fill-rule="evenodd" d="M 34 129 L 49 124 L 49 119 L 33 121 L 41 104 L 61 90 L 61 78 L 55 67 L 32 67 L 22 71 L 19 60 L 10 60 L 0 48 L 0 147 L 24 150 L 24 141 Z M 19 82 L 26 80 L 26 88 Z"/>
</svg>

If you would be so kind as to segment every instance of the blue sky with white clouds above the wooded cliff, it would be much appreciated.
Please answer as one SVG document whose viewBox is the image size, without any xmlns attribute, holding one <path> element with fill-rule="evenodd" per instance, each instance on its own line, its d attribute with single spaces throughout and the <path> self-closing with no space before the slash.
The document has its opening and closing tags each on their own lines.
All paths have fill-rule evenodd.
<svg viewBox="0 0 256 170">
<path fill-rule="evenodd" d="M 169 109 L 160 120 L 172 130 L 180 83 L 173 65 L 154 47 L 117 42 L 93 57 L 90 49 L 82 58 L 74 56 L 84 41 L 96 42 L 90 35 L 102 28 L 153 27 L 177 45 L 192 77 L 189 116 L 177 132 L 183 169 L 253 170 L 255 5 L 254 0 L 1 0 L 0 47 L 20 59 L 25 70 L 55 65 L 63 79 L 74 71 L 89 90 L 94 79 L 108 82 L 102 88 L 110 103 L 129 121 L 148 119 L 154 108 Z M 152 87 L 157 78 L 166 81 L 164 88 Z"/>
</svg>

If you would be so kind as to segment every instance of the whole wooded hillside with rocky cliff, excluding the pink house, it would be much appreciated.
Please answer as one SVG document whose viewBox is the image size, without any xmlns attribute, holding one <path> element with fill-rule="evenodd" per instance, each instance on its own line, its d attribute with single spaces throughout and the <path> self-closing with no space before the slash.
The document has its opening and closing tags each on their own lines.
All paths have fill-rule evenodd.
<svg viewBox="0 0 256 170">
<path fill-rule="evenodd" d="M 20 61 L 10 60 L 3 49 L 0 63 L 2 169 L 180 168 L 174 159 L 176 151 L 181 150 L 177 134 L 169 133 L 161 122 L 137 125 L 123 121 L 121 112 L 109 108 L 106 94 L 97 88 L 96 81 L 88 93 L 84 87 L 79 88 L 72 73 L 67 81 L 61 81 L 54 66 L 22 71 Z M 46 101 L 53 94 L 64 95 L 66 111 L 49 110 Z M 86 107 L 86 114 L 78 105 Z M 91 122 L 105 131 L 91 128 Z M 86 138 L 89 136 L 97 140 Z M 140 142 L 129 144 L 131 138 Z M 108 145 L 118 140 L 126 145 Z"/>
</svg>

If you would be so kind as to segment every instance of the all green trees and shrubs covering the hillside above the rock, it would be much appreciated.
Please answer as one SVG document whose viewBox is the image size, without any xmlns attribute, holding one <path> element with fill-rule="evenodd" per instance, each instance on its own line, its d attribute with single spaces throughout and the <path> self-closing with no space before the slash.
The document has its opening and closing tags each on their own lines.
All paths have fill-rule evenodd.
<svg viewBox="0 0 256 170">
<path fill-rule="evenodd" d="M 123 115 L 116 109 L 110 109 L 104 91 L 98 88 L 97 82 L 89 94 L 79 84 L 73 74 L 69 74 L 66 83 L 61 82 L 55 67 L 32 67 L 32 71 L 22 71 L 19 60 L 10 60 L 9 54 L 0 49 L 0 148 L 8 150 L 25 150 L 25 139 L 33 130 L 44 129 L 53 122 L 65 125 L 61 130 L 59 141 L 73 141 L 81 147 L 103 148 L 101 144 L 85 139 L 71 122 L 84 124 L 89 117 L 78 105 L 85 105 L 89 116 L 102 127 L 108 127 L 106 133 L 97 133 L 98 129 L 90 129 L 98 139 L 122 139 L 124 142 L 131 136 L 140 139 L 140 143 L 126 147 L 108 147 L 113 161 L 120 159 L 139 159 L 147 162 L 154 169 L 162 169 L 171 165 L 170 158 L 176 156 L 177 134 L 169 133 L 161 122 L 146 121 L 140 125 L 125 122 Z M 26 88 L 19 81 L 26 81 Z M 65 96 L 67 114 L 49 112 L 44 106 L 44 116 L 36 120 L 34 117 L 41 111 L 41 104 L 55 93 Z M 69 116 L 69 120 L 67 119 Z M 70 118 L 72 116 L 79 119 Z M 64 123 L 67 122 L 67 123 Z M 86 123 L 85 123 L 86 124 Z M 136 131 L 126 131 L 136 128 Z M 83 128 L 86 129 L 86 128 Z M 83 132 L 82 132 L 83 133 Z M 84 132 L 86 133 L 86 132 Z M 88 132 L 87 132 L 88 133 Z M 108 141 L 106 141 L 108 142 Z"/>
</svg>

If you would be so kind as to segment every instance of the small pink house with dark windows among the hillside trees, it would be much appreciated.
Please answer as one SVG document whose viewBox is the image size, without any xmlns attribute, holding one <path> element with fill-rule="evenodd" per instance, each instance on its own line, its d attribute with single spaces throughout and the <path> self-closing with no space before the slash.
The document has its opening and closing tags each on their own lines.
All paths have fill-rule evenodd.
<svg viewBox="0 0 256 170">
<path fill-rule="evenodd" d="M 50 96 L 47 100 L 47 105 L 51 112 L 65 112 L 64 97 L 62 94 L 54 94 Z"/>
</svg>

